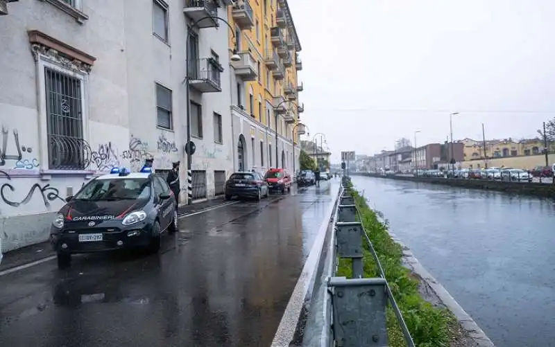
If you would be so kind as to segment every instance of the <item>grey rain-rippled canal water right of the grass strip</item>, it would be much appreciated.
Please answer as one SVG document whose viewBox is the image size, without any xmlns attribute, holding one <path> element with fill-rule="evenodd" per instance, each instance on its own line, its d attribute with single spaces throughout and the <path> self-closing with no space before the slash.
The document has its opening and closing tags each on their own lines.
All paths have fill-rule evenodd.
<svg viewBox="0 0 555 347">
<path fill-rule="evenodd" d="M 353 177 L 496 346 L 555 346 L 555 203 Z"/>
</svg>

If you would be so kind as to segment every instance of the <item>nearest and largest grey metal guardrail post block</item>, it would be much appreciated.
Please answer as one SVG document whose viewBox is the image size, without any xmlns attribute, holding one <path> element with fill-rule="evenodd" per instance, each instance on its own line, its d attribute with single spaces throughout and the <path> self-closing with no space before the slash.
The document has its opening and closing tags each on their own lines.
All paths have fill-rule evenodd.
<svg viewBox="0 0 555 347">
<path fill-rule="evenodd" d="M 333 332 L 337 347 L 386 347 L 386 280 L 332 277 Z"/>
</svg>

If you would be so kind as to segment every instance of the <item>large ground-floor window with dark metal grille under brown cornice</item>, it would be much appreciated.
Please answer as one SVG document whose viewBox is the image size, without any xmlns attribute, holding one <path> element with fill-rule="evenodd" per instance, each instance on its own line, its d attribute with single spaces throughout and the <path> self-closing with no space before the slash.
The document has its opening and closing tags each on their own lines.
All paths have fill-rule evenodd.
<svg viewBox="0 0 555 347">
<path fill-rule="evenodd" d="M 81 80 L 45 68 L 44 82 L 49 168 L 84 170 L 90 148 L 83 139 Z"/>
</svg>

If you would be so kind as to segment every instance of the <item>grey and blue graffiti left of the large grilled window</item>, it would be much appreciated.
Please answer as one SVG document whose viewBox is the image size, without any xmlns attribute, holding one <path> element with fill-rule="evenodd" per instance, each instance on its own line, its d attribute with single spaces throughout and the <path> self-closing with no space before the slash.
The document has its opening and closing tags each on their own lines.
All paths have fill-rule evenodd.
<svg viewBox="0 0 555 347">
<path fill-rule="evenodd" d="M 6 125 L 2 125 L 0 147 L 0 166 L 8 166 L 14 169 L 33 170 L 38 168 L 39 161 L 32 157 L 33 148 L 19 143 L 19 132 L 17 129 L 10 131 Z M 8 146 L 9 144 L 9 146 Z M 23 158 L 23 154 L 31 154 L 28 159 Z"/>
</svg>

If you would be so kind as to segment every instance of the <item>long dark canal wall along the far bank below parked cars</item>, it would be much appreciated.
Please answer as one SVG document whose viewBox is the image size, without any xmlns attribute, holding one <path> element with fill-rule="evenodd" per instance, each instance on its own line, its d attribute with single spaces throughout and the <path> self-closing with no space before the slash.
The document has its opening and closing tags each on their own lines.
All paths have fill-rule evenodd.
<svg viewBox="0 0 555 347">
<path fill-rule="evenodd" d="M 445 186 L 456 186 L 462 188 L 474 188 L 483 190 L 496 190 L 505 193 L 531 195 L 537 197 L 555 197 L 555 185 L 545 183 L 490 181 L 486 179 L 445 179 L 441 177 L 407 177 L 407 176 L 382 176 L 369 172 L 357 172 L 352 175 L 378 177 L 383 179 L 398 179 L 401 181 L 416 181 L 431 184 L 443 184 Z"/>
</svg>

